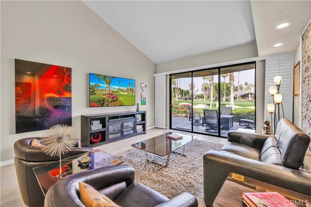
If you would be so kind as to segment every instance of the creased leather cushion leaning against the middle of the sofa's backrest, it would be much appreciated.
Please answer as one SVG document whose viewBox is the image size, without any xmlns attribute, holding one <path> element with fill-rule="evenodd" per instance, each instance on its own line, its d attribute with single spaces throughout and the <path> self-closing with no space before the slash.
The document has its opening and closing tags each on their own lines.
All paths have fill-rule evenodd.
<svg viewBox="0 0 311 207">
<path fill-rule="evenodd" d="M 269 137 L 263 143 L 260 151 L 260 161 L 283 166 L 281 153 L 278 150 L 276 138 Z"/>
</svg>

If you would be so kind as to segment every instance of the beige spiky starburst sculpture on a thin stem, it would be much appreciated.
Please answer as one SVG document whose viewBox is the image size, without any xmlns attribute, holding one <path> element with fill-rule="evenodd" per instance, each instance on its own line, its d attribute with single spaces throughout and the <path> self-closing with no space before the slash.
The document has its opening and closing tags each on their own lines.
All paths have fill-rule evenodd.
<svg viewBox="0 0 311 207">
<path fill-rule="evenodd" d="M 78 139 L 73 127 L 56 124 L 48 129 L 47 137 L 42 138 L 41 150 L 49 156 L 59 156 L 59 174 L 62 173 L 62 154 L 66 155 L 76 145 Z"/>
</svg>

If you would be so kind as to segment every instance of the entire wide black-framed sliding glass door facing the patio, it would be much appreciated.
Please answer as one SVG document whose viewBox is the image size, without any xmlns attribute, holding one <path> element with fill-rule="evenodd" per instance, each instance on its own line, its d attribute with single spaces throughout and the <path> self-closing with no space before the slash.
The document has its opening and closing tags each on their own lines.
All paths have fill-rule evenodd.
<svg viewBox="0 0 311 207">
<path fill-rule="evenodd" d="M 255 63 L 172 74 L 170 128 L 227 137 L 255 129 Z"/>
</svg>

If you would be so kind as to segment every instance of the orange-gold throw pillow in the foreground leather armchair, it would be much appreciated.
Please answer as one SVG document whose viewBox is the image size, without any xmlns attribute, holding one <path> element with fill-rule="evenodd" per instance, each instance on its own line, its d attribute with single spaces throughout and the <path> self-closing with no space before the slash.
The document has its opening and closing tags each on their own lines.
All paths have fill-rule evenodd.
<svg viewBox="0 0 311 207">
<path fill-rule="evenodd" d="M 120 207 L 92 186 L 79 182 L 80 200 L 86 207 Z"/>
</svg>

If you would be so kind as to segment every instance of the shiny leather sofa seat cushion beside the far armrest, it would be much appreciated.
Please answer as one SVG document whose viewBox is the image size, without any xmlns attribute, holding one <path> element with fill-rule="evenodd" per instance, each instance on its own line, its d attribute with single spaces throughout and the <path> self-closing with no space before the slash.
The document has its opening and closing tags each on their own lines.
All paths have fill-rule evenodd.
<svg viewBox="0 0 311 207">
<path fill-rule="evenodd" d="M 254 147 L 247 146 L 245 144 L 240 144 L 234 141 L 228 141 L 222 147 L 220 151 L 230 152 L 236 155 L 241 155 L 246 158 L 259 160 L 260 150 Z"/>
</svg>

